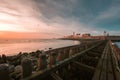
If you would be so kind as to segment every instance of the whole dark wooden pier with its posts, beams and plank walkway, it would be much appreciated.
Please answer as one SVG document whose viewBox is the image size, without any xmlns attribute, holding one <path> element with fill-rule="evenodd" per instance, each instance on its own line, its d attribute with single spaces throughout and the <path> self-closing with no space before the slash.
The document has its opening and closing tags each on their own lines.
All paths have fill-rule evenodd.
<svg viewBox="0 0 120 80">
<path fill-rule="evenodd" d="M 120 80 L 119 52 L 109 40 L 84 42 L 46 51 L 37 57 L 33 71 L 31 59 L 21 61 L 19 78 L 0 70 L 1 80 Z M 5 65 L 4 65 L 5 66 Z M 4 67 L 5 68 L 5 67 Z"/>
</svg>

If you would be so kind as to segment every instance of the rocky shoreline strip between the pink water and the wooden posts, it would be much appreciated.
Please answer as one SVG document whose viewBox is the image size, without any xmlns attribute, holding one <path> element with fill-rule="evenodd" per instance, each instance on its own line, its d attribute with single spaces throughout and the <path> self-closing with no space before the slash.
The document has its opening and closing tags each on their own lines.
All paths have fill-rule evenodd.
<svg viewBox="0 0 120 80">
<path fill-rule="evenodd" d="M 87 42 L 87 43 L 89 44 L 89 42 Z M 55 49 L 49 48 L 48 51 L 37 50 L 35 52 L 30 52 L 30 53 L 20 52 L 19 54 L 14 55 L 14 56 L 2 55 L 2 58 L 0 60 L 0 61 L 2 61 L 0 64 L 0 68 L 2 69 L 2 68 L 4 68 L 4 66 L 6 66 L 9 70 L 11 78 L 18 80 L 18 78 L 20 79 L 19 76 L 21 76 L 21 73 L 22 73 L 22 68 L 23 68 L 22 61 L 23 60 L 29 59 L 29 61 L 31 61 L 32 72 L 37 72 L 38 65 L 39 65 L 38 60 L 42 60 L 45 58 L 47 64 L 50 64 L 51 56 L 58 54 L 58 57 L 59 57 L 60 54 L 64 55 L 64 53 L 68 53 L 68 55 L 66 55 L 66 56 L 71 56 L 73 54 L 73 53 L 71 54 L 71 51 L 72 52 L 79 51 L 80 46 L 81 46 L 81 50 L 86 49 L 87 43 L 80 43 L 77 45 L 71 45 L 71 46 L 60 47 L 60 48 L 55 48 Z M 89 45 L 89 46 L 91 46 L 91 45 Z"/>
</svg>

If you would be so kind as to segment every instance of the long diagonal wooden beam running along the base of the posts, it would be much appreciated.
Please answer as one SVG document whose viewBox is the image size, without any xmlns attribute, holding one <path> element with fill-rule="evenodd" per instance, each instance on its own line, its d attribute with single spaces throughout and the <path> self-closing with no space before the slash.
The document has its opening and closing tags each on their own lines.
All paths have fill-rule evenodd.
<svg viewBox="0 0 120 80">
<path fill-rule="evenodd" d="M 66 58 L 66 59 L 58 62 L 57 64 L 52 65 L 50 68 L 46 68 L 46 69 L 44 69 L 44 70 L 38 71 L 37 73 L 35 73 L 35 74 L 33 74 L 33 75 L 29 76 L 29 77 L 26 77 L 26 78 L 24 78 L 24 79 L 22 79 L 22 80 L 34 80 L 34 78 L 37 78 L 37 77 L 39 77 L 39 79 L 40 79 L 40 78 L 43 78 L 44 76 L 49 75 L 49 74 L 51 73 L 51 71 L 55 71 L 55 70 L 57 70 L 59 67 L 62 67 L 63 65 L 66 65 L 66 64 L 70 63 L 71 61 L 77 59 L 81 54 L 83 54 L 83 53 L 85 53 L 85 52 L 87 52 L 87 51 L 89 51 L 89 50 L 97 47 L 98 45 L 100 45 L 100 44 L 103 43 L 103 42 L 104 42 L 104 41 L 100 41 L 100 42 L 98 42 L 98 43 L 96 42 L 97 44 L 93 45 L 92 47 L 87 48 L 86 50 L 84 50 L 84 51 L 82 51 L 82 52 L 77 52 L 77 54 L 74 54 L 74 55 L 72 55 L 71 57 Z M 79 48 L 80 48 L 80 47 L 79 47 Z"/>
</svg>

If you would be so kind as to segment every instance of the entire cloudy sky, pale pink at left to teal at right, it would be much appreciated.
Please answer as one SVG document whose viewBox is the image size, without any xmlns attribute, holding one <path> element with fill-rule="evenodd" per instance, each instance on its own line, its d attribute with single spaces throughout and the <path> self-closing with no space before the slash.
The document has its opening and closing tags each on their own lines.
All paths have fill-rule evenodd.
<svg viewBox="0 0 120 80">
<path fill-rule="evenodd" d="M 0 0 L 0 36 L 28 32 L 45 38 L 104 31 L 119 35 L 119 15 L 120 0 Z"/>
</svg>

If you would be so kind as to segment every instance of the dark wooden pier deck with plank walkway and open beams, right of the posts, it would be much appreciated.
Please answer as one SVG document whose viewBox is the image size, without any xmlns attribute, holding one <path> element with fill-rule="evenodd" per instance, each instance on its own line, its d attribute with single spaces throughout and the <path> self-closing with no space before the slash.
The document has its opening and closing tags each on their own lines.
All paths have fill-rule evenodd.
<svg viewBox="0 0 120 80">
<path fill-rule="evenodd" d="M 69 56 L 62 59 L 65 55 L 58 54 L 59 61 L 54 59 L 54 64 L 50 63 L 46 69 L 23 80 L 120 80 L 110 41 L 98 41 L 67 49 L 72 49 L 72 55 L 68 51 Z"/>
</svg>

